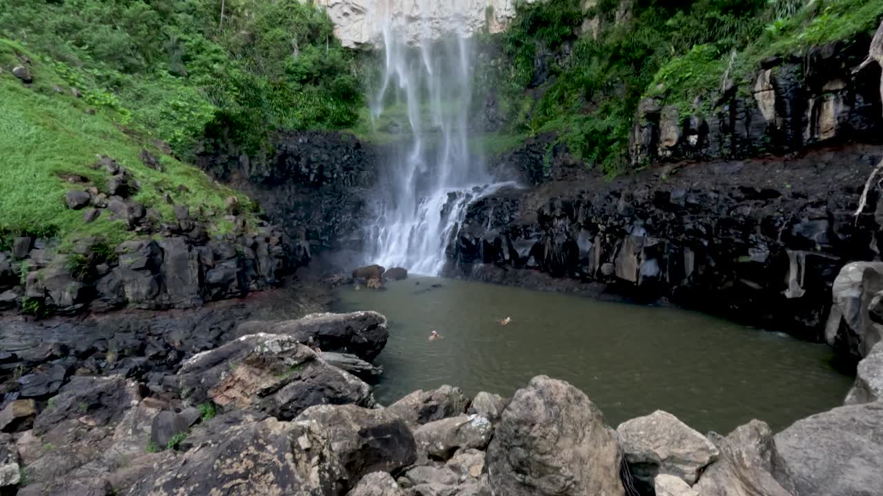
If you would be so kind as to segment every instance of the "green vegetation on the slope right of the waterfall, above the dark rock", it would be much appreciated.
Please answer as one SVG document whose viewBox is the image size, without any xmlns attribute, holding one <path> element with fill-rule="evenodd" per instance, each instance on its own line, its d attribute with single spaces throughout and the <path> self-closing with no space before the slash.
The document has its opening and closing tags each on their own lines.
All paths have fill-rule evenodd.
<svg viewBox="0 0 883 496">
<path fill-rule="evenodd" d="M 580 4 L 521 4 L 513 26 L 487 38 L 502 47 L 502 61 L 492 53 L 480 64 L 491 70 L 479 88 L 494 92 L 509 123 L 492 151 L 553 132 L 577 159 L 615 175 L 627 163 L 641 98 L 682 116 L 707 112 L 725 79 L 750 81 L 768 56 L 849 40 L 883 17 L 877 0 L 636 0 L 618 20 L 618 0 L 585 13 Z M 599 22 L 597 38 L 579 33 L 586 18 Z M 549 66 L 546 80 L 534 80 L 538 57 Z"/>
</svg>

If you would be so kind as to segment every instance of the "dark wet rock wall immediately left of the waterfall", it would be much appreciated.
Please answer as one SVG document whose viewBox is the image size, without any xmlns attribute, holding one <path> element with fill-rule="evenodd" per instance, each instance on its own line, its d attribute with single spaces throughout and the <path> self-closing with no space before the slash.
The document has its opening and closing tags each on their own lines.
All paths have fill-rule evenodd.
<svg viewBox="0 0 883 496">
<path fill-rule="evenodd" d="M 200 167 L 257 200 L 309 253 L 358 250 L 377 185 L 378 152 L 341 132 L 287 132 L 273 154 L 245 154 L 217 139 Z"/>
</svg>

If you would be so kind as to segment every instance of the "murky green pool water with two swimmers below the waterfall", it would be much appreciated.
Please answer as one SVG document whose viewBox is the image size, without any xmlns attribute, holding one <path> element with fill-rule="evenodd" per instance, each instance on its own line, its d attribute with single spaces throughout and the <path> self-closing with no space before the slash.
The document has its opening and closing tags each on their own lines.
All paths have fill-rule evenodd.
<svg viewBox="0 0 883 496">
<path fill-rule="evenodd" d="M 389 319 L 375 361 L 382 404 L 442 384 L 509 396 L 547 374 L 585 391 L 611 425 L 661 409 L 699 432 L 752 418 L 778 431 L 841 404 L 852 382 L 826 345 L 696 312 L 429 277 L 387 288 L 343 288 L 336 308 Z M 433 330 L 442 339 L 430 342 Z"/>
</svg>

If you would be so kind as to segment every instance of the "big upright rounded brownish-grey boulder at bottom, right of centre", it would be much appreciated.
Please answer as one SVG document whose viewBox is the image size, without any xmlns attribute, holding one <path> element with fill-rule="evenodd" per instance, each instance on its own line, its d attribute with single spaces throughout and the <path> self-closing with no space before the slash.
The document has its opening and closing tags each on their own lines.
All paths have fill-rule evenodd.
<svg viewBox="0 0 883 496">
<path fill-rule="evenodd" d="M 616 432 L 576 387 L 538 376 L 519 389 L 487 447 L 494 494 L 623 496 Z"/>
</svg>

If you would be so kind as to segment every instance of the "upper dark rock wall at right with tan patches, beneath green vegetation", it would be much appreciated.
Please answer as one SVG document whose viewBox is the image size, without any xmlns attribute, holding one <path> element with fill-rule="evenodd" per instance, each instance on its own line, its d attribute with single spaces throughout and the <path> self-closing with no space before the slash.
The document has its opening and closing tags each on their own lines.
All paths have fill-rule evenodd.
<svg viewBox="0 0 883 496">
<path fill-rule="evenodd" d="M 630 138 L 634 165 L 789 154 L 823 144 L 883 141 L 880 67 L 862 63 L 869 36 L 763 61 L 751 84 L 724 82 L 694 106 L 645 99 Z"/>
</svg>

